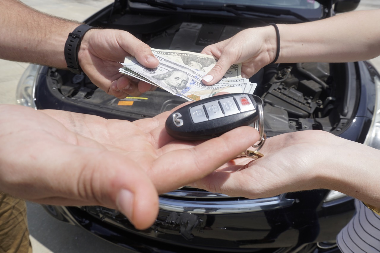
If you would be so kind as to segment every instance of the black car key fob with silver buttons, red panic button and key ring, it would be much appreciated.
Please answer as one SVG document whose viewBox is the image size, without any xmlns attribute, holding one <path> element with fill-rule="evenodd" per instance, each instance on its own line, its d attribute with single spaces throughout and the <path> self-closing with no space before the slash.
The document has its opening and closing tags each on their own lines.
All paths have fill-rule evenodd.
<svg viewBox="0 0 380 253">
<path fill-rule="evenodd" d="M 260 133 L 260 142 L 238 157 L 252 159 L 263 157 L 258 152 L 266 135 L 263 126 L 263 101 L 247 93 L 225 94 L 205 98 L 173 112 L 165 123 L 166 131 L 176 139 L 195 141 L 211 139 L 236 127 L 253 124 Z"/>
</svg>

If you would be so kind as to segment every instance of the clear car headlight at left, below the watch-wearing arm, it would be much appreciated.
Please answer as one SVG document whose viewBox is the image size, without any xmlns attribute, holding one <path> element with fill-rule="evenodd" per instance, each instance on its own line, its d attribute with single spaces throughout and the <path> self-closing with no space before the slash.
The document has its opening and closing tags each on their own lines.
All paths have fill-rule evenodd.
<svg viewBox="0 0 380 253">
<path fill-rule="evenodd" d="M 22 74 L 16 89 L 17 104 L 37 109 L 34 103 L 34 92 L 36 77 L 40 68 L 40 65 L 30 64 Z"/>
</svg>

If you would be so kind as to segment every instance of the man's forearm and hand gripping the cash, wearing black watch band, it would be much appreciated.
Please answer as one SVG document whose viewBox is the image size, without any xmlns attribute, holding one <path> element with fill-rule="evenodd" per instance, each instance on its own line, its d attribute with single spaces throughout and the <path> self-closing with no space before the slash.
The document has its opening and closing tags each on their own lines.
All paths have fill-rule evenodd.
<svg viewBox="0 0 380 253">
<path fill-rule="evenodd" d="M 0 58 L 67 68 L 65 43 L 79 23 L 41 13 L 18 0 L 2 0 L 0 24 L 0 34 L 7 35 L 0 39 Z M 111 29 L 89 30 L 82 38 L 78 61 L 95 85 L 117 98 L 154 90 L 147 82 L 119 73 L 125 56 L 136 57 L 147 68 L 158 66 L 147 44 L 126 31 Z"/>
</svg>

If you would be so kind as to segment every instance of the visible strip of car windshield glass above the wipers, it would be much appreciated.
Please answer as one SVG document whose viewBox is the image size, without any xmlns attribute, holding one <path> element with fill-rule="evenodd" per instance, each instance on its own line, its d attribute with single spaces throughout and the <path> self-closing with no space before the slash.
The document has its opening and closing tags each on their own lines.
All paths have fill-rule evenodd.
<svg viewBox="0 0 380 253">
<path fill-rule="evenodd" d="M 178 5 L 250 5 L 281 8 L 317 9 L 315 0 L 160 0 Z"/>
</svg>

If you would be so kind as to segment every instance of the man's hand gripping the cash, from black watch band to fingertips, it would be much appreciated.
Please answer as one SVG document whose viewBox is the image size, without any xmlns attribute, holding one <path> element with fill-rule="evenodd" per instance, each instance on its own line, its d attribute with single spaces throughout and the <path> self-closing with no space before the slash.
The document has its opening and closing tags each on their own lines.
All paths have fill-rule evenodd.
<svg viewBox="0 0 380 253">
<path fill-rule="evenodd" d="M 150 47 L 122 30 L 89 30 L 78 53 L 79 65 L 91 81 L 117 98 L 155 90 L 154 85 L 119 73 L 125 56 L 134 56 L 147 68 L 158 66 Z"/>
</svg>

